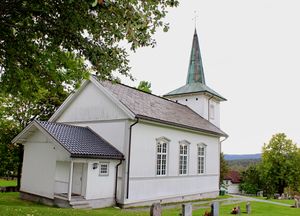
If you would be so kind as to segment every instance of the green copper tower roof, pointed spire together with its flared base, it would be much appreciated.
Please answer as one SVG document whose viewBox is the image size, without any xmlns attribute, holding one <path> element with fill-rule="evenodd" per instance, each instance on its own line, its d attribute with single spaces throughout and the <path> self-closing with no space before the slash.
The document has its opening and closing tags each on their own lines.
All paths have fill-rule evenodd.
<svg viewBox="0 0 300 216">
<path fill-rule="evenodd" d="M 177 88 L 164 96 L 179 96 L 183 94 L 206 93 L 215 96 L 220 101 L 226 100 L 213 89 L 209 88 L 205 83 L 204 70 L 199 46 L 197 31 L 195 29 L 192 43 L 192 50 L 189 61 L 189 69 L 186 84 Z"/>
</svg>

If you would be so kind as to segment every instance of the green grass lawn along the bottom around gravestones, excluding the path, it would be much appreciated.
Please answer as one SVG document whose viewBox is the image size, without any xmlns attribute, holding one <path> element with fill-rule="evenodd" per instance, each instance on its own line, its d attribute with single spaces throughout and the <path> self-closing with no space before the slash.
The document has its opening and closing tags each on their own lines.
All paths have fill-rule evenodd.
<svg viewBox="0 0 300 216">
<path fill-rule="evenodd" d="M 0 215 L 2 216 L 149 216 L 149 211 L 139 211 L 137 209 L 115 209 L 105 208 L 97 210 L 76 210 L 76 209 L 62 209 L 47 207 L 44 205 L 27 202 L 18 198 L 19 193 L 0 193 Z M 242 212 L 245 211 L 245 203 L 240 203 Z M 230 211 L 234 205 L 226 205 L 220 207 L 220 215 L 231 215 Z M 267 203 L 251 202 L 252 216 L 299 216 L 300 209 L 294 209 L 290 207 L 277 206 Z M 198 209 L 193 211 L 194 216 L 201 216 L 205 212 L 205 209 Z M 163 210 L 164 216 L 178 216 L 180 208 L 172 208 Z M 244 213 L 244 215 L 246 215 Z"/>
</svg>

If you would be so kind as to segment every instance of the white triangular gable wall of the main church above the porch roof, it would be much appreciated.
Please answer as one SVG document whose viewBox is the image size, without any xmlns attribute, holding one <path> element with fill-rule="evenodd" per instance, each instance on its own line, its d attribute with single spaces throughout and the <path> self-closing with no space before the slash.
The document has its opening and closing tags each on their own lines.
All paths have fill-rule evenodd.
<svg viewBox="0 0 300 216">
<path fill-rule="evenodd" d="M 89 82 L 56 121 L 97 121 L 126 117 L 126 114 L 111 99 Z"/>
</svg>

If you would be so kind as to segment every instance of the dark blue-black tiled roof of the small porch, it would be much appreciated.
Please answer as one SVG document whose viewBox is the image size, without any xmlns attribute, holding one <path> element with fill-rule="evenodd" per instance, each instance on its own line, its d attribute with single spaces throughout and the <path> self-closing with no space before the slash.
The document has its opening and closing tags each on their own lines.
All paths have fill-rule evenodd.
<svg viewBox="0 0 300 216">
<path fill-rule="evenodd" d="M 58 143 L 71 153 L 71 157 L 122 159 L 115 147 L 87 127 L 36 121 Z"/>
</svg>

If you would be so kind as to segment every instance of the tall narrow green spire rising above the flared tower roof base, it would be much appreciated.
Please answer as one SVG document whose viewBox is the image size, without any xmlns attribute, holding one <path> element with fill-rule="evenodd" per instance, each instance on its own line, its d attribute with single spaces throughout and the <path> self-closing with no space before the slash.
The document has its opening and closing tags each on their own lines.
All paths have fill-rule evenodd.
<svg viewBox="0 0 300 216">
<path fill-rule="evenodd" d="M 194 33 L 193 45 L 190 56 L 189 72 L 186 80 L 186 84 L 191 83 L 205 84 L 202 58 L 196 29 Z"/>
</svg>

